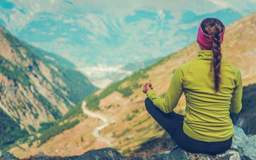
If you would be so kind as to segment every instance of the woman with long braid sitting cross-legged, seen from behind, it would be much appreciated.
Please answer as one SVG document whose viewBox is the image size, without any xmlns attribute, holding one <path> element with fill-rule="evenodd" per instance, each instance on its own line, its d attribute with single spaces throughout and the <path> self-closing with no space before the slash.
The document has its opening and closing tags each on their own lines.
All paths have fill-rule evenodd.
<svg viewBox="0 0 256 160">
<path fill-rule="evenodd" d="M 240 112 L 243 86 L 240 70 L 221 60 L 224 32 L 220 20 L 202 20 L 197 33 L 201 48 L 198 57 L 178 66 L 164 98 L 157 95 L 151 83 L 143 86 L 148 113 L 189 152 L 219 154 L 232 144 L 230 112 Z M 183 92 L 184 117 L 173 111 Z"/>
</svg>

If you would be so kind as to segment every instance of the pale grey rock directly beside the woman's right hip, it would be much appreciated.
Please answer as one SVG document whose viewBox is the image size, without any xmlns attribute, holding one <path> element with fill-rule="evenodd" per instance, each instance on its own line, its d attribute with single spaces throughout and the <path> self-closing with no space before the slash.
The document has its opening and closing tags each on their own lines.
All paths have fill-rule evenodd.
<svg viewBox="0 0 256 160">
<path fill-rule="evenodd" d="M 243 142 L 244 140 L 248 139 L 248 137 L 246 136 L 242 128 L 237 127 L 235 125 L 234 129 L 235 129 L 235 134 L 233 136 L 231 149 L 237 150 L 237 145 Z"/>
</svg>

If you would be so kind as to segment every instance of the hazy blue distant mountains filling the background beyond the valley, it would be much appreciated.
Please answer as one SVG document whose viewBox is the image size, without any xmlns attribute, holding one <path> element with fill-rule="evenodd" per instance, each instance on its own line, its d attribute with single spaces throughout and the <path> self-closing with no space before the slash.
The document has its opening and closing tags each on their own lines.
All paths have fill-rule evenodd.
<svg viewBox="0 0 256 160">
<path fill-rule="evenodd" d="M 128 63 L 192 44 L 203 18 L 216 17 L 228 25 L 255 7 L 251 0 L 2 0 L 0 22 L 29 44 L 70 60 L 98 84 Z"/>
</svg>

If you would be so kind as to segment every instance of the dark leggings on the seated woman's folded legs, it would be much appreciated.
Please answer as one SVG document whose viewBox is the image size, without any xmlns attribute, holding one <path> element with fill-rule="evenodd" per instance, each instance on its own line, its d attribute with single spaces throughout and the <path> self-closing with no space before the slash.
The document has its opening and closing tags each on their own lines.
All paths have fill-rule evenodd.
<svg viewBox="0 0 256 160">
<path fill-rule="evenodd" d="M 174 111 L 164 113 L 148 97 L 145 100 L 145 106 L 148 113 L 170 134 L 178 146 L 188 152 L 215 155 L 223 153 L 231 147 L 232 137 L 228 140 L 218 142 L 205 142 L 190 138 L 183 132 L 184 119 L 182 115 L 176 114 Z"/>
</svg>

